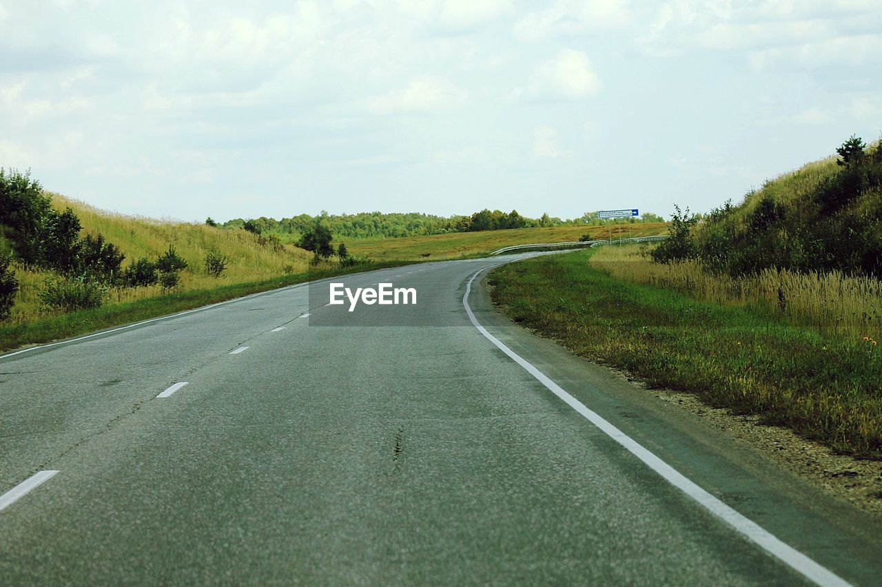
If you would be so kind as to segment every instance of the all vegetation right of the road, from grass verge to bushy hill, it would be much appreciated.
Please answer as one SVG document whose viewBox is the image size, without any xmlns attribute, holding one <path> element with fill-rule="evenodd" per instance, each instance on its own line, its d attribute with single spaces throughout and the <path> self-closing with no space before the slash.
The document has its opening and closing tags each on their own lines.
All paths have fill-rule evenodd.
<svg viewBox="0 0 882 587">
<path fill-rule="evenodd" d="M 575 353 L 654 387 L 882 457 L 882 149 L 766 182 L 657 246 L 497 269 L 494 299 Z"/>
</svg>

